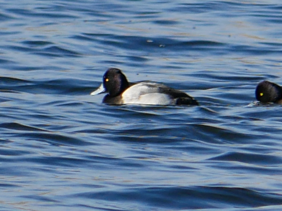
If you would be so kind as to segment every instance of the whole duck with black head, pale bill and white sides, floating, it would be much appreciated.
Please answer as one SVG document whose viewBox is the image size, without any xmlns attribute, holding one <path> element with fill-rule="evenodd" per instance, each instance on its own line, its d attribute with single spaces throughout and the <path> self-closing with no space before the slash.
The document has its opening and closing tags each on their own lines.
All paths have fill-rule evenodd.
<svg viewBox="0 0 282 211">
<path fill-rule="evenodd" d="M 118 68 L 107 69 L 102 84 L 91 95 L 101 93 L 108 93 L 103 103 L 111 105 L 199 105 L 190 95 L 164 84 L 152 81 L 130 83 Z"/>
</svg>

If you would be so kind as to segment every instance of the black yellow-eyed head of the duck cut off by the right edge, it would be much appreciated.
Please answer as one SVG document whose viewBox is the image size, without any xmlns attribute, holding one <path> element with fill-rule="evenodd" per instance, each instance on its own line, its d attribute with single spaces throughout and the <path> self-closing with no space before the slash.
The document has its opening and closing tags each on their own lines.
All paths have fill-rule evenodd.
<svg viewBox="0 0 282 211">
<path fill-rule="evenodd" d="M 264 80 L 257 85 L 255 97 L 263 103 L 277 102 L 282 99 L 282 87 Z"/>
</svg>

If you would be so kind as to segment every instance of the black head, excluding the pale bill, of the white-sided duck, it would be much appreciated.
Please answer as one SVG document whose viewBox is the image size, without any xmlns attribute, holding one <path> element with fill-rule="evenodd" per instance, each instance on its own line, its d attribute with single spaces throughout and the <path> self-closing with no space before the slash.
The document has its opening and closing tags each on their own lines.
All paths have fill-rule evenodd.
<svg viewBox="0 0 282 211">
<path fill-rule="evenodd" d="M 109 96 L 114 97 L 127 89 L 129 84 L 120 69 L 109 68 L 103 76 L 103 86 L 109 92 Z"/>
</svg>

